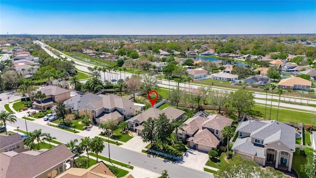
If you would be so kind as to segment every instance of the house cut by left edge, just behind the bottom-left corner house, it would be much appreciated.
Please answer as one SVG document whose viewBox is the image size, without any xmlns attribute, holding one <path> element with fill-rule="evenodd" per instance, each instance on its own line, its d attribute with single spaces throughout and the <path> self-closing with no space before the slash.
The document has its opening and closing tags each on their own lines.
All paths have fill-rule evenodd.
<svg viewBox="0 0 316 178">
<path fill-rule="evenodd" d="M 27 150 L 29 150 L 29 148 L 24 147 L 24 141 L 20 134 L 0 134 L 0 153 L 8 151 L 15 151 L 17 153 L 21 153 Z"/>
</svg>

